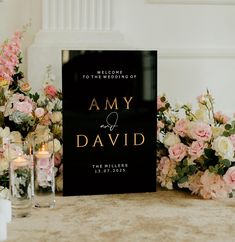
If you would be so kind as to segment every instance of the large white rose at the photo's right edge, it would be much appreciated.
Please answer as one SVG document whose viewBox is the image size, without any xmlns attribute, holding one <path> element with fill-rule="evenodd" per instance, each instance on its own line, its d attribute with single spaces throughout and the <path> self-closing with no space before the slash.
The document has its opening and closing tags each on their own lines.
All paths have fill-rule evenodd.
<svg viewBox="0 0 235 242">
<path fill-rule="evenodd" d="M 222 159 L 232 160 L 234 158 L 233 144 L 227 137 L 217 137 L 212 143 L 212 149 L 214 149 L 216 154 L 221 156 Z"/>
</svg>

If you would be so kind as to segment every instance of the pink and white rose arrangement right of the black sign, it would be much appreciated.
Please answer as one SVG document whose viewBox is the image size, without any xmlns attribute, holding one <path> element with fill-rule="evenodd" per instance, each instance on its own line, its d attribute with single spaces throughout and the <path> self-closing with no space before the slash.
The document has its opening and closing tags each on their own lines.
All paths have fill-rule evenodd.
<svg viewBox="0 0 235 242">
<path fill-rule="evenodd" d="M 214 111 L 207 91 L 190 105 L 157 98 L 157 180 L 205 199 L 232 196 L 235 188 L 235 120 Z"/>
</svg>

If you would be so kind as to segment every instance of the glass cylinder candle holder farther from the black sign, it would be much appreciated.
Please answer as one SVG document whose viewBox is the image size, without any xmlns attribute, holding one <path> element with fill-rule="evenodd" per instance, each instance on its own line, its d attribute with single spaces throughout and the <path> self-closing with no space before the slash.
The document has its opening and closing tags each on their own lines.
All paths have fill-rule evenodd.
<svg viewBox="0 0 235 242">
<path fill-rule="evenodd" d="M 10 143 L 10 193 L 13 217 L 30 215 L 32 207 L 32 168 L 27 143 Z"/>
</svg>

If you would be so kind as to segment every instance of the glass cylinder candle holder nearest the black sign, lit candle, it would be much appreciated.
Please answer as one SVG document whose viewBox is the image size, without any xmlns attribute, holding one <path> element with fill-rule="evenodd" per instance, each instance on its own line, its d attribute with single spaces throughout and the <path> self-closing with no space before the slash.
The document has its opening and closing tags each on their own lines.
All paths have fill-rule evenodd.
<svg viewBox="0 0 235 242">
<path fill-rule="evenodd" d="M 34 135 L 34 207 L 55 206 L 53 135 Z"/>
</svg>

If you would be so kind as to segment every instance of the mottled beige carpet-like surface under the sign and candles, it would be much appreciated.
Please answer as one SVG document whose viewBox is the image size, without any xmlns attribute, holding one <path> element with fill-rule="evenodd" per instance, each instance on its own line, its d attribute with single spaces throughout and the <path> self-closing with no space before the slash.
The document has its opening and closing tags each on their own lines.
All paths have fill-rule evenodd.
<svg viewBox="0 0 235 242">
<path fill-rule="evenodd" d="M 235 241 L 235 199 L 201 200 L 183 192 L 57 197 L 56 208 L 13 219 L 8 240 Z"/>
</svg>

